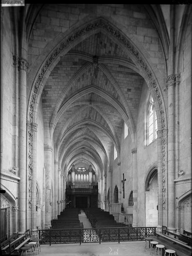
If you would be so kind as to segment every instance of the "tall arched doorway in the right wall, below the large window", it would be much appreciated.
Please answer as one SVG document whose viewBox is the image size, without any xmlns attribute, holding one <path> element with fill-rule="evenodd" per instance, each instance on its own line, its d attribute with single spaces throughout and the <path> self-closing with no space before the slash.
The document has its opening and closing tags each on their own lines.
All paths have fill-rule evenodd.
<svg viewBox="0 0 192 256">
<path fill-rule="evenodd" d="M 146 179 L 145 192 L 145 226 L 158 225 L 158 175 L 157 168 L 152 168 Z"/>
</svg>

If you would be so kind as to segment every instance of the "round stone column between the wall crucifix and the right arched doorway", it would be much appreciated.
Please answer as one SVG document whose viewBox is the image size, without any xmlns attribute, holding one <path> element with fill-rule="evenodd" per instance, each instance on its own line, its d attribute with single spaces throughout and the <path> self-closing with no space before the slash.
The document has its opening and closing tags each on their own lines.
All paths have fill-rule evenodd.
<svg viewBox="0 0 192 256">
<path fill-rule="evenodd" d="M 138 180 L 137 180 L 137 148 L 131 150 L 133 154 L 133 227 L 138 227 Z"/>
</svg>

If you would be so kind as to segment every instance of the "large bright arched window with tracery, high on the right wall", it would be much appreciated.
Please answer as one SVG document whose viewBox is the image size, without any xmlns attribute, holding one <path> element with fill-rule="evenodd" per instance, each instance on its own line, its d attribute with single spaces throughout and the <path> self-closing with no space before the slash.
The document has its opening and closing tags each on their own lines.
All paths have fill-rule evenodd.
<svg viewBox="0 0 192 256">
<path fill-rule="evenodd" d="M 154 101 L 150 96 L 149 107 L 147 111 L 147 145 L 157 138 L 157 115 Z"/>
</svg>

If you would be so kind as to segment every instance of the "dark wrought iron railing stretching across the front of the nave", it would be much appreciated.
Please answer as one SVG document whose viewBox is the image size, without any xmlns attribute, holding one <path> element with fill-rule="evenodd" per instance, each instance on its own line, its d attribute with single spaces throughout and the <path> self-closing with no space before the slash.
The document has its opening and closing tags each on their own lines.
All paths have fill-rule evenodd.
<svg viewBox="0 0 192 256">
<path fill-rule="evenodd" d="M 156 227 L 116 227 L 90 229 L 38 230 L 41 244 L 99 243 L 143 241 L 156 235 Z"/>
</svg>

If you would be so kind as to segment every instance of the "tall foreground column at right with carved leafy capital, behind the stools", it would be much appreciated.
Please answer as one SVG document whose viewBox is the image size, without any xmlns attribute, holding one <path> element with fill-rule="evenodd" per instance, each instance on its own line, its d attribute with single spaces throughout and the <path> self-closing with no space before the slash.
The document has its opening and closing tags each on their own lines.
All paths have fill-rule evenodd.
<svg viewBox="0 0 192 256">
<path fill-rule="evenodd" d="M 179 82 L 180 75 L 167 77 L 168 87 L 168 172 L 167 172 L 167 230 L 175 232 L 175 85 Z"/>
</svg>

